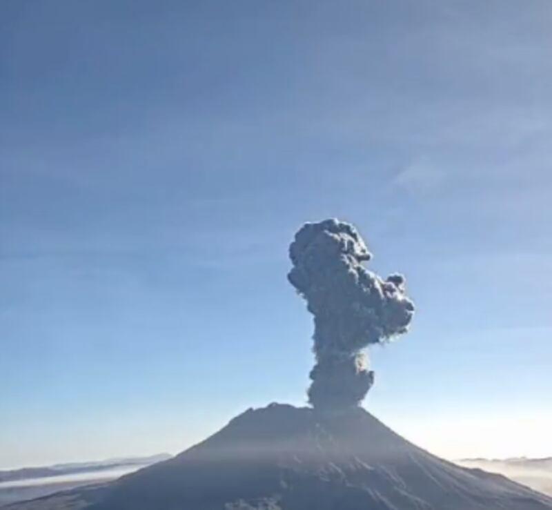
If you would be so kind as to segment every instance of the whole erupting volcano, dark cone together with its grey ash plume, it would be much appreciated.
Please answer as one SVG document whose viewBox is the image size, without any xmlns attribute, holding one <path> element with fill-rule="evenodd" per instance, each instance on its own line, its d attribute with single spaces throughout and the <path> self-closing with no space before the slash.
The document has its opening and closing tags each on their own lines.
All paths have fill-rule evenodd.
<svg viewBox="0 0 552 510">
<path fill-rule="evenodd" d="M 404 440 L 360 403 L 373 383 L 363 349 L 408 330 L 402 275 L 337 219 L 304 224 L 288 279 L 314 315 L 312 407 L 249 409 L 175 458 L 116 482 L 12 510 L 552 510 L 502 475 L 446 462 Z"/>
</svg>

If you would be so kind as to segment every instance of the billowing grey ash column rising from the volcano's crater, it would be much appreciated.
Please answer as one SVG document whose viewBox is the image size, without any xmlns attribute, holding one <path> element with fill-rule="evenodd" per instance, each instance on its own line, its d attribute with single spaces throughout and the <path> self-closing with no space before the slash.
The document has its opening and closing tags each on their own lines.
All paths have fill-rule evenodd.
<svg viewBox="0 0 552 510">
<path fill-rule="evenodd" d="M 304 224 L 289 255 L 288 279 L 315 322 L 308 400 L 317 409 L 357 406 L 374 379 L 362 349 L 405 333 L 411 322 L 404 277 L 382 279 L 364 268 L 371 253 L 355 227 L 337 219 Z"/>
</svg>

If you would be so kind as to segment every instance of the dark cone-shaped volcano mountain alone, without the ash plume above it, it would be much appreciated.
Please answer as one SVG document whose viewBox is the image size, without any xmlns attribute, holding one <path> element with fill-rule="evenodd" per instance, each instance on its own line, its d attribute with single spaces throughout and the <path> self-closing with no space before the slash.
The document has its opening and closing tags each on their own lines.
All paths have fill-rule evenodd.
<svg viewBox="0 0 552 510">
<path fill-rule="evenodd" d="M 284 404 L 250 409 L 175 458 L 93 490 L 7 508 L 552 510 L 552 498 L 441 460 L 364 409 Z"/>
</svg>

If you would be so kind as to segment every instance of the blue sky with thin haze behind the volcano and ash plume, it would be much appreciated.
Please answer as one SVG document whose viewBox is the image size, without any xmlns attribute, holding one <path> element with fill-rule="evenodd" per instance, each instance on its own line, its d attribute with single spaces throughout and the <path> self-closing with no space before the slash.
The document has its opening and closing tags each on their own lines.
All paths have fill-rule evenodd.
<svg viewBox="0 0 552 510">
<path fill-rule="evenodd" d="M 417 304 L 364 405 L 552 455 L 552 4 L 0 6 L 0 468 L 176 452 L 303 404 L 308 220 Z"/>
</svg>

